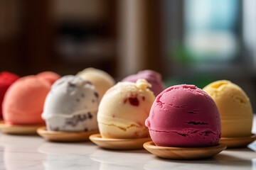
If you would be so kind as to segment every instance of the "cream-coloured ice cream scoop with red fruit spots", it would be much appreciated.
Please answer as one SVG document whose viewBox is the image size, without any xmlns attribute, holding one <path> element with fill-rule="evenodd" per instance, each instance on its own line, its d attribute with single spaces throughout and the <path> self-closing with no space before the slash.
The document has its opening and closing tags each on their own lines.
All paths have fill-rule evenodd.
<svg viewBox="0 0 256 170">
<path fill-rule="evenodd" d="M 144 79 L 136 83 L 119 82 L 110 88 L 100 102 L 97 121 L 104 138 L 148 137 L 144 122 L 154 102 L 151 85 Z"/>
</svg>

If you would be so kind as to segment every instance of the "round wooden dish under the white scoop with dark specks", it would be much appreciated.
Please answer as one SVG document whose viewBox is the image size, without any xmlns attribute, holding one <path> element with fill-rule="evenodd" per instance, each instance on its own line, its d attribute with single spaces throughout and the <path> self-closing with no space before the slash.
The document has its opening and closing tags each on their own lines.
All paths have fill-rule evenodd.
<svg viewBox="0 0 256 170">
<path fill-rule="evenodd" d="M 38 128 L 37 132 L 41 137 L 53 142 L 85 142 L 89 140 L 90 135 L 98 133 L 99 131 L 61 132 L 46 130 L 46 126 L 43 126 Z"/>
</svg>

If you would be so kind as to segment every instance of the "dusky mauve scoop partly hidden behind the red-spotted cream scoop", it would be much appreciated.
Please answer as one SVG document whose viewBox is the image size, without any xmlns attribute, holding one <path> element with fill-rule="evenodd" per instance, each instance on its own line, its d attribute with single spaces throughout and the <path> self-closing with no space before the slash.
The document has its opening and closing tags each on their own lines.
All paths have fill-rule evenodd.
<svg viewBox="0 0 256 170">
<path fill-rule="evenodd" d="M 145 79 L 151 84 L 150 90 L 153 91 L 154 95 L 157 96 L 163 91 L 164 84 L 161 80 L 161 74 L 154 72 L 152 70 L 146 69 L 144 71 L 140 71 L 137 74 L 130 75 L 122 79 L 122 81 L 136 82 L 138 79 Z"/>
</svg>

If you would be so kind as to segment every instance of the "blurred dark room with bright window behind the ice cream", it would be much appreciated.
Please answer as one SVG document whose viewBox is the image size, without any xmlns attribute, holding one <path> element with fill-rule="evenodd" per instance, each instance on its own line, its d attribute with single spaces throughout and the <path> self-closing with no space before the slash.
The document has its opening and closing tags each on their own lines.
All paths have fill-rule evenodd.
<svg viewBox="0 0 256 170">
<path fill-rule="evenodd" d="M 117 81 L 154 69 L 166 86 L 228 79 L 256 108 L 254 0 L 0 0 L 0 71 L 87 67 Z"/>
</svg>

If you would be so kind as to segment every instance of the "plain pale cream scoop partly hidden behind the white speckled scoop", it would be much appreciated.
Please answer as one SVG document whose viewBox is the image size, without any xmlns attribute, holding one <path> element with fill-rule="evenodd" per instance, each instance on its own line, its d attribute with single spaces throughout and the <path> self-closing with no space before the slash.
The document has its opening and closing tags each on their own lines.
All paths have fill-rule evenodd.
<svg viewBox="0 0 256 170">
<path fill-rule="evenodd" d="M 114 79 L 110 74 L 107 74 L 107 72 L 103 72 L 100 69 L 87 68 L 82 70 L 82 72 L 78 72 L 77 76 L 90 81 L 95 86 L 99 93 L 100 100 L 107 89 L 110 89 L 110 87 L 115 84 Z"/>
</svg>

